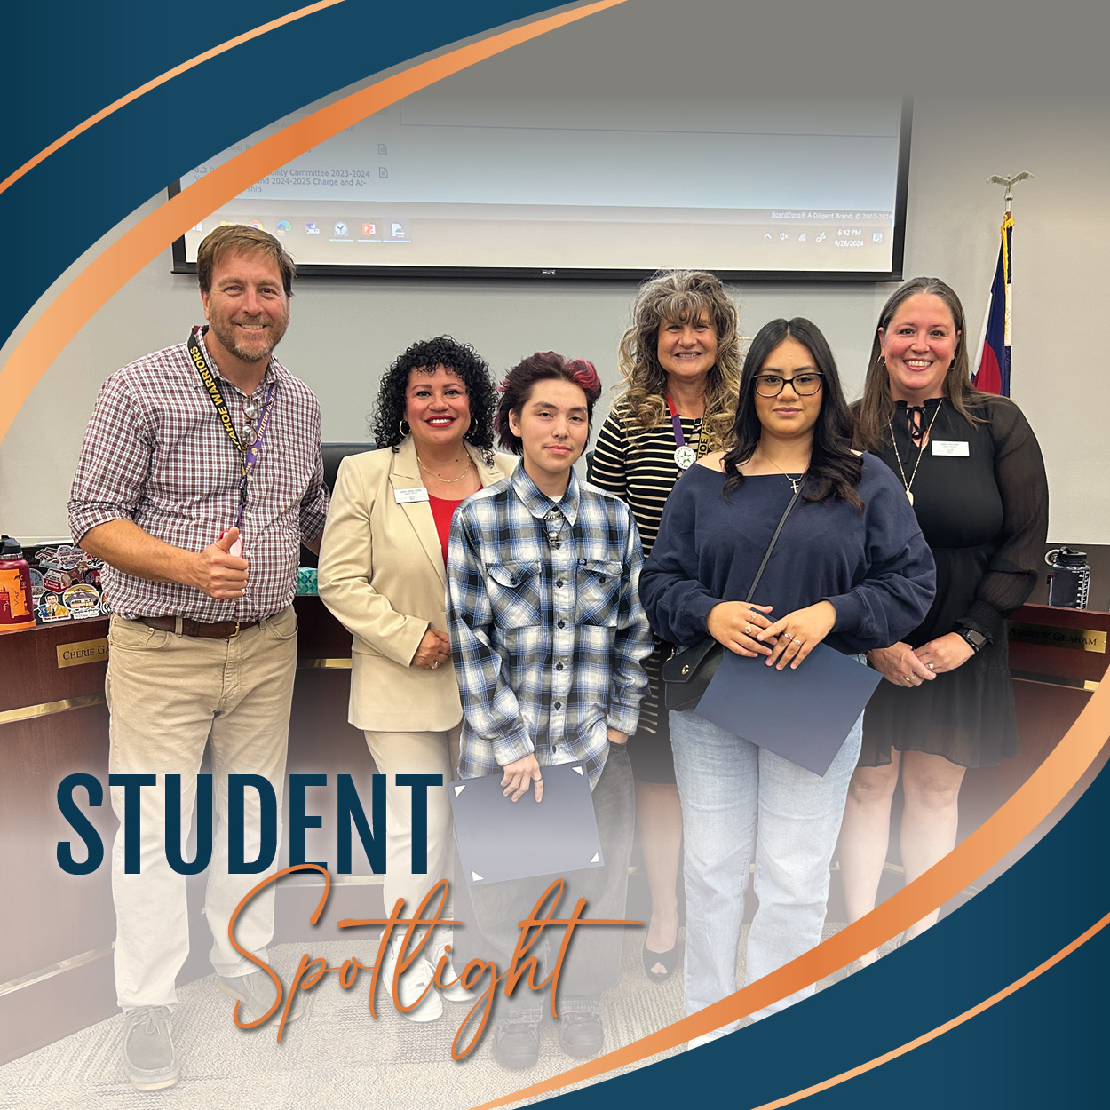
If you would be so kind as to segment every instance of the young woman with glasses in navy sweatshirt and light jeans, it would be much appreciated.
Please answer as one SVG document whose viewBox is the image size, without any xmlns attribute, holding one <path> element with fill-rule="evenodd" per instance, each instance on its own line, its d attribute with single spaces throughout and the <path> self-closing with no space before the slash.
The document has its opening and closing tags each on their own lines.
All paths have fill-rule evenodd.
<svg viewBox="0 0 1110 1110">
<path fill-rule="evenodd" d="M 692 466 L 667 500 L 640 579 L 656 634 L 686 646 L 708 633 L 781 669 L 804 668 L 823 640 L 859 655 L 915 628 L 936 588 L 932 556 L 889 467 L 851 450 L 836 363 L 810 321 L 775 320 L 756 335 L 734 436 L 735 446 Z M 795 490 L 800 496 L 748 605 L 739 599 Z M 824 776 L 745 740 L 743 719 L 736 729 L 694 710 L 670 713 L 685 824 L 688 1013 L 736 989 L 753 854 L 759 908 L 746 981 L 820 940 L 861 720 Z"/>
</svg>

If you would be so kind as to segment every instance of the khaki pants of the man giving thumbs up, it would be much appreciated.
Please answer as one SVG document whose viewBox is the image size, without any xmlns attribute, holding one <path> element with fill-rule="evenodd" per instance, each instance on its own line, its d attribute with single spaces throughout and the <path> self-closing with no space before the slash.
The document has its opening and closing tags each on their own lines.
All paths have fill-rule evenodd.
<svg viewBox="0 0 1110 1110">
<path fill-rule="evenodd" d="M 296 615 L 292 606 L 230 639 L 201 639 L 112 617 L 105 694 L 111 714 L 109 770 L 154 774 L 138 813 L 128 814 L 122 787 L 112 787 L 120 829 L 112 849 L 115 902 L 115 990 L 124 1009 L 173 1006 L 174 979 L 189 955 L 185 877 L 165 859 L 164 776 L 181 776 L 182 850 L 192 824 L 196 774 L 212 744 L 215 828 L 204 914 L 212 930 L 211 960 L 223 976 L 254 970 L 228 939 L 228 922 L 258 875 L 228 874 L 228 776 L 263 775 L 278 796 L 278 844 L 296 673 Z M 246 789 L 245 859 L 258 856 L 258 794 Z M 124 874 L 124 828 L 141 821 L 140 874 Z M 235 938 L 265 959 L 273 937 L 274 888 L 255 896 L 239 916 Z"/>
</svg>

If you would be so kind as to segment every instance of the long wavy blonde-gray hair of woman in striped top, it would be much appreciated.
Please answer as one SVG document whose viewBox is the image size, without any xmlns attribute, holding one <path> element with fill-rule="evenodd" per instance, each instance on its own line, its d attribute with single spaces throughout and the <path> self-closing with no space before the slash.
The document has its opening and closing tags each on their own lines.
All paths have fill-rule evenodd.
<svg viewBox="0 0 1110 1110">
<path fill-rule="evenodd" d="M 633 322 L 620 337 L 623 400 L 632 423 L 646 431 L 667 416 L 667 374 L 659 365 L 659 325 L 697 321 L 706 313 L 717 333 L 717 361 L 705 386 L 703 434 L 710 451 L 728 442 L 740 386 L 736 305 L 720 279 L 703 270 L 668 270 L 639 287 Z"/>
</svg>

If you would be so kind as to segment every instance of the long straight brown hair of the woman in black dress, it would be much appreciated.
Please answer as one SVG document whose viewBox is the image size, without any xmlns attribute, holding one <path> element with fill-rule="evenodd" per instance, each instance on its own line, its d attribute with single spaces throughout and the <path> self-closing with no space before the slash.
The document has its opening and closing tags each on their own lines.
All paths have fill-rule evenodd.
<svg viewBox="0 0 1110 1110">
<path fill-rule="evenodd" d="M 981 403 L 989 394 L 980 393 L 971 384 L 971 367 L 968 359 L 967 322 L 963 319 L 963 305 L 956 291 L 939 278 L 912 278 L 900 285 L 882 305 L 879 322 L 875 326 L 875 339 L 871 341 L 871 356 L 867 364 L 867 377 L 864 380 L 864 396 L 852 406 L 856 413 L 856 446 L 862 451 L 878 451 L 887 446 L 889 440 L 888 426 L 894 416 L 895 402 L 890 396 L 890 375 L 882 361 L 882 343 L 879 340 L 879 329 L 886 334 L 895 313 L 911 296 L 918 293 L 929 293 L 939 296 L 952 314 L 952 323 L 959 332 L 956 356 L 945 375 L 945 396 L 952 407 L 969 423 L 981 424 L 982 417 L 968 411 L 969 406 Z"/>
</svg>

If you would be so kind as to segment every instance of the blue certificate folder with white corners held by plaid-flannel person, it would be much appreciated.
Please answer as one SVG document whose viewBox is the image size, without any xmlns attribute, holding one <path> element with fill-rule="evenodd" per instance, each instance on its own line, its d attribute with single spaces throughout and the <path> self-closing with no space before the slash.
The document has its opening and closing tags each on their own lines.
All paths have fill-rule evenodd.
<svg viewBox="0 0 1110 1110">
<path fill-rule="evenodd" d="M 519 801 L 503 797 L 501 771 L 448 784 L 467 886 L 604 865 L 585 767 L 555 764 L 543 775 L 538 804 L 532 790 Z"/>
</svg>

